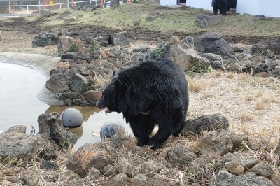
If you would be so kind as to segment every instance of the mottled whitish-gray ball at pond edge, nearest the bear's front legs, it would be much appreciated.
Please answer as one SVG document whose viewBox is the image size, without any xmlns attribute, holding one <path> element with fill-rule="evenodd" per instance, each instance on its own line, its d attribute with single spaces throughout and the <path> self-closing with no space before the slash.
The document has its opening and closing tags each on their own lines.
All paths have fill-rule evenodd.
<svg viewBox="0 0 280 186">
<path fill-rule="evenodd" d="M 101 130 L 100 137 L 102 140 L 111 138 L 113 135 L 125 136 L 125 127 L 120 122 L 106 122 Z"/>
</svg>

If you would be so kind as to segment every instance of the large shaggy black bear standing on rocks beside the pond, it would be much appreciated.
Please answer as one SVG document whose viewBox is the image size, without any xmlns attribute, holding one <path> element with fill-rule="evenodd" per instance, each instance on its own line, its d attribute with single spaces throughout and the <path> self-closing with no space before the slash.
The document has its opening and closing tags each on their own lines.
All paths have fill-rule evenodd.
<svg viewBox="0 0 280 186">
<path fill-rule="evenodd" d="M 169 136 L 179 136 L 188 111 L 188 82 L 179 65 L 168 59 L 147 60 L 114 71 L 97 106 L 123 113 L 137 145 L 162 148 Z M 158 124 L 158 132 L 150 135 Z"/>
</svg>

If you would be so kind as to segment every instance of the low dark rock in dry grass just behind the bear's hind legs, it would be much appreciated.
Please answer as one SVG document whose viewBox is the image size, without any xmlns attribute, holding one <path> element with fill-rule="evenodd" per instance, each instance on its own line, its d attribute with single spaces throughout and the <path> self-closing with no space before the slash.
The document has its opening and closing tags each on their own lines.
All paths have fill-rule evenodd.
<svg viewBox="0 0 280 186">
<path fill-rule="evenodd" d="M 202 134 L 203 131 L 228 129 L 228 119 L 222 114 L 203 115 L 195 119 L 188 119 L 182 129 L 181 134 L 186 136 L 188 134 Z"/>
</svg>

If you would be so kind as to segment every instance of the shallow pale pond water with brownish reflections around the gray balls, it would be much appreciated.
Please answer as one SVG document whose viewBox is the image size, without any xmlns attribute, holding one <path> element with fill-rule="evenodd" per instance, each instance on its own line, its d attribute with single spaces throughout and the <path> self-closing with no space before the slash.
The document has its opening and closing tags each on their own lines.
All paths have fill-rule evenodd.
<svg viewBox="0 0 280 186">
<path fill-rule="evenodd" d="M 45 85 L 45 78 L 35 69 L 18 64 L 0 62 L 0 131 L 15 125 L 25 125 L 27 133 L 35 125 L 38 132 L 38 116 L 42 113 L 57 112 L 59 115 L 67 106 L 48 106 L 36 98 L 36 92 Z M 69 106 L 68 106 L 69 107 Z M 101 141 L 92 131 L 101 129 L 105 122 L 116 121 L 123 124 L 128 134 L 132 134 L 130 125 L 125 123 L 123 114 L 109 113 L 94 106 L 71 106 L 80 110 L 84 122 L 81 127 L 70 129 L 78 136 L 75 147 L 85 143 Z"/>
</svg>

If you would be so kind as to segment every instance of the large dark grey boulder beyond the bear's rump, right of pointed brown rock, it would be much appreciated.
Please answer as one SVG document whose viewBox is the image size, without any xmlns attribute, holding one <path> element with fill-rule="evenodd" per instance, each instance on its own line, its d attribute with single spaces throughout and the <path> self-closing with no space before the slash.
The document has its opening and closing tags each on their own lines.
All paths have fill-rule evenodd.
<svg viewBox="0 0 280 186">
<path fill-rule="evenodd" d="M 195 48 L 203 53 L 214 53 L 222 57 L 235 55 L 230 44 L 214 32 L 195 37 Z"/>
</svg>

